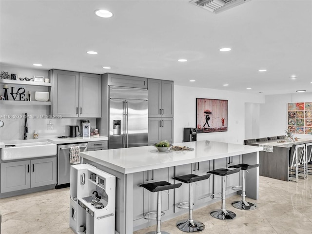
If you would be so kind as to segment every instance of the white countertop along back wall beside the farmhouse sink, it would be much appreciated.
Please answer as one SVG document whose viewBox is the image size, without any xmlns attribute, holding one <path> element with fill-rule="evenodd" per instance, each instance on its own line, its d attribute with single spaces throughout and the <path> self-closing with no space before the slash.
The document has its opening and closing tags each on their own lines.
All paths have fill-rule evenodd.
<svg viewBox="0 0 312 234">
<path fill-rule="evenodd" d="M 29 139 L 29 140 L 4 140 L 0 142 L 0 148 L 4 148 L 5 144 L 18 144 L 18 143 L 33 143 L 33 142 L 42 142 L 49 141 L 53 144 L 71 144 L 79 142 L 89 142 L 89 141 L 99 141 L 99 140 L 108 140 L 108 137 L 99 136 L 99 137 L 67 137 L 67 138 L 58 138 L 58 137 L 47 137 L 39 139 Z"/>
</svg>

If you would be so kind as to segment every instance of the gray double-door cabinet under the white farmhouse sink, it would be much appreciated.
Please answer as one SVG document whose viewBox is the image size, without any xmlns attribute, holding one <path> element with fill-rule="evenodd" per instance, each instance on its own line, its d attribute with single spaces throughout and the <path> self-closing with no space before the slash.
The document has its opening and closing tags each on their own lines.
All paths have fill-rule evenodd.
<svg viewBox="0 0 312 234">
<path fill-rule="evenodd" d="M 1 193 L 35 188 L 56 182 L 56 157 L 1 163 Z"/>
</svg>

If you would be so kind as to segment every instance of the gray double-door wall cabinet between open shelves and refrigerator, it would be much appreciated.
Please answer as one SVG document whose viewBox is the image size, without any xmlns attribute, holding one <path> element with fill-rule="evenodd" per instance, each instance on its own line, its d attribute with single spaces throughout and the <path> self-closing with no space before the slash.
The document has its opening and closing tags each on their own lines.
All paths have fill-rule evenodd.
<svg viewBox="0 0 312 234">
<path fill-rule="evenodd" d="M 52 115 L 101 117 L 101 76 L 50 70 Z"/>
</svg>

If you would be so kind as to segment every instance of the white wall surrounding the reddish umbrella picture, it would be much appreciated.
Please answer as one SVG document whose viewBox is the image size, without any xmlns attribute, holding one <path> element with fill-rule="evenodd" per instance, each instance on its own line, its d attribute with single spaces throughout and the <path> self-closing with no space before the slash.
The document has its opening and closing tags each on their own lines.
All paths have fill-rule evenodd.
<svg viewBox="0 0 312 234">
<path fill-rule="evenodd" d="M 183 128 L 195 127 L 196 98 L 228 100 L 228 131 L 197 134 L 197 140 L 242 144 L 245 139 L 245 102 L 264 103 L 264 96 L 175 85 L 174 142 L 182 142 Z"/>
</svg>

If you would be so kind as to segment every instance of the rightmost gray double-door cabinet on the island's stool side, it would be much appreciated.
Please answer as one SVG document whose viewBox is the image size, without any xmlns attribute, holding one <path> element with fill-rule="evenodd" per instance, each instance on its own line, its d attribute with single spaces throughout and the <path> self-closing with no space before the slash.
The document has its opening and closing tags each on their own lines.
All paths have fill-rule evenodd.
<svg viewBox="0 0 312 234">
<path fill-rule="evenodd" d="M 230 166 L 239 164 L 242 162 L 242 156 L 231 156 L 226 158 L 220 158 L 214 160 L 214 168 L 228 168 Z M 214 193 L 221 192 L 221 180 L 222 176 L 215 176 L 215 183 L 214 183 Z M 226 195 L 236 193 L 237 191 L 232 190 L 233 186 L 241 185 L 241 172 L 231 174 L 226 178 Z"/>
</svg>

